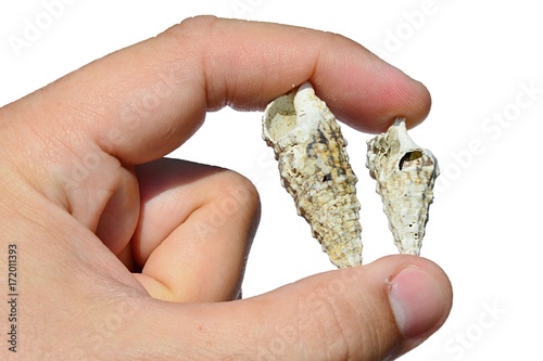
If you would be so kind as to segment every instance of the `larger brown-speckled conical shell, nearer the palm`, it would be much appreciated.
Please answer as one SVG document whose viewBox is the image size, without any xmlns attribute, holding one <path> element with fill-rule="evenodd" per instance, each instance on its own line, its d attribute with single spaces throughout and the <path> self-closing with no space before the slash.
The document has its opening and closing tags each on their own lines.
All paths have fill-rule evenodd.
<svg viewBox="0 0 543 361">
<path fill-rule="evenodd" d="M 282 186 L 330 261 L 339 268 L 361 265 L 357 179 L 336 117 L 311 83 L 266 107 L 263 139 L 279 160 Z"/>
</svg>

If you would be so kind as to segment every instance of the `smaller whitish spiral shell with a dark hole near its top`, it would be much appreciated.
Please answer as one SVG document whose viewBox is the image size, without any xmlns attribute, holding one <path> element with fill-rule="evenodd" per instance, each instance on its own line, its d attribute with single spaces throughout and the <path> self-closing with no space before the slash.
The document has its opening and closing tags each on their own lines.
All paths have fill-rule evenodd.
<svg viewBox="0 0 543 361">
<path fill-rule="evenodd" d="M 405 119 L 367 142 L 366 166 L 377 180 L 389 228 L 401 254 L 419 255 L 439 176 L 433 154 L 413 142 Z"/>
</svg>

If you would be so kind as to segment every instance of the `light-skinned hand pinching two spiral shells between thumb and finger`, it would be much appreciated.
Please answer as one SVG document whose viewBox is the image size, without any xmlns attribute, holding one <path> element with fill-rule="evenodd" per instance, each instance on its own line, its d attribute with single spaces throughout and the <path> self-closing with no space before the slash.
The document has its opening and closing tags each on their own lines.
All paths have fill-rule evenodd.
<svg viewBox="0 0 543 361">
<path fill-rule="evenodd" d="M 361 131 L 430 108 L 420 82 L 341 36 L 213 17 L 0 108 L 0 269 L 16 244 L 23 295 L 17 353 L 1 358 L 392 360 L 441 327 L 450 281 L 414 256 L 239 299 L 256 190 L 163 156 L 207 111 L 263 109 L 307 80 Z"/>
</svg>

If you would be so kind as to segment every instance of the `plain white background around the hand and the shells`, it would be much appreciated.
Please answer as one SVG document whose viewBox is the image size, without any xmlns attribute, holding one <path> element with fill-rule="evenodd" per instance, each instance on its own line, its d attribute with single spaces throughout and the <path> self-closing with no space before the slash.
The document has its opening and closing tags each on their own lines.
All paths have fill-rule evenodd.
<svg viewBox="0 0 543 361">
<path fill-rule="evenodd" d="M 447 272 L 455 298 L 443 328 L 402 360 L 542 358 L 536 144 L 543 130 L 543 22 L 535 1 L 65 2 L 50 23 L 43 23 L 47 15 L 41 18 L 42 1 L 0 4 L 0 105 L 197 14 L 340 33 L 421 80 L 433 106 L 412 137 L 438 156 L 442 170 L 422 256 Z M 39 18 L 39 37 L 15 49 L 10 39 L 24 39 L 25 26 Z M 273 152 L 261 139 L 261 115 L 210 114 L 174 154 L 229 167 L 258 188 L 262 222 L 244 296 L 333 269 L 279 185 Z M 364 165 L 370 136 L 346 126 L 343 132 L 359 178 L 364 261 L 370 262 L 395 247 Z"/>
</svg>

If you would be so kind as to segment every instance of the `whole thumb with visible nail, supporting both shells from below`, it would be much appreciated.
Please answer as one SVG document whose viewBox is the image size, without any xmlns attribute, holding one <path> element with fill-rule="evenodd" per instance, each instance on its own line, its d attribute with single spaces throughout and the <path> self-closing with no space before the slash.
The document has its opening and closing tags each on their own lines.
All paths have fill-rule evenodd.
<svg viewBox="0 0 543 361">
<path fill-rule="evenodd" d="M 167 320 L 154 334 L 173 358 L 392 360 L 434 333 L 451 306 L 451 283 L 435 263 L 390 256 L 245 300 L 172 304 L 153 321 Z"/>
</svg>

